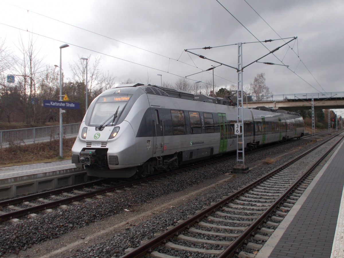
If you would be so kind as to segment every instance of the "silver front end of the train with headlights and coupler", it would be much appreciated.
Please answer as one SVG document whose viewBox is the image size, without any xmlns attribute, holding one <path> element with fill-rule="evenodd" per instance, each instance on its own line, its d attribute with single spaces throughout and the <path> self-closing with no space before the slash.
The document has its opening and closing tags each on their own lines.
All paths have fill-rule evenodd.
<svg viewBox="0 0 344 258">
<path fill-rule="evenodd" d="M 136 87 L 112 88 L 91 103 L 72 148 L 72 163 L 89 176 L 135 175 L 136 129 L 126 117 L 137 101 L 148 105 L 141 92 Z"/>
</svg>

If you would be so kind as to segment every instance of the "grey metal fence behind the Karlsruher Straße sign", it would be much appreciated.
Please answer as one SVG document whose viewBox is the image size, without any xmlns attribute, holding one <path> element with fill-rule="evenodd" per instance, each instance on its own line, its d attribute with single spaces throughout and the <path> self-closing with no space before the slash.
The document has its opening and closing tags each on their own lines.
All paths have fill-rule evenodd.
<svg viewBox="0 0 344 258">
<path fill-rule="evenodd" d="M 76 136 L 81 123 L 63 125 L 63 137 Z M 1 130 L 0 148 L 10 144 L 36 143 L 60 138 L 60 126 L 44 126 L 25 129 Z"/>
</svg>

